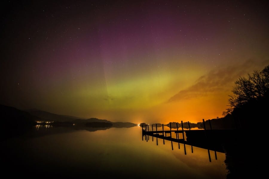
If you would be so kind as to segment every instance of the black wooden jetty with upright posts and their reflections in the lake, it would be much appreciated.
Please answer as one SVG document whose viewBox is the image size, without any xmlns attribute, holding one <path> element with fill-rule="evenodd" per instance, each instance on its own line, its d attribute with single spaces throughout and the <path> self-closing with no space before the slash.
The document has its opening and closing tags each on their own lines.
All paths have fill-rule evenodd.
<svg viewBox="0 0 269 179">
<path fill-rule="evenodd" d="M 184 144 L 184 152 L 186 153 L 186 147 L 185 145 L 190 145 L 192 148 L 193 153 L 193 147 L 199 147 L 203 149 L 208 150 L 208 156 L 209 161 L 211 162 L 210 157 L 210 150 L 215 152 L 215 159 L 217 160 L 216 152 L 224 153 L 223 144 L 229 142 L 230 139 L 233 139 L 234 135 L 236 134 L 236 129 L 212 129 L 210 121 L 210 129 L 205 128 L 205 122 L 204 123 L 204 130 L 184 130 L 183 128 L 183 121 L 181 121 L 181 130 L 178 129 L 178 124 L 176 130 L 172 130 L 171 123 L 170 123 L 170 130 L 163 130 L 163 124 L 162 124 L 162 130 L 157 130 L 157 124 L 155 125 L 156 130 L 153 129 L 149 130 L 149 125 L 142 126 L 142 140 L 149 140 L 149 136 L 152 136 L 153 138 L 156 137 L 156 143 L 158 145 L 158 139 L 163 139 L 163 144 L 165 143 L 165 140 L 171 141 L 171 146 L 173 150 L 173 142 L 178 143 L 178 148 L 180 149 L 180 143 Z M 188 122 L 189 125 L 189 122 Z M 181 136 L 181 137 L 180 137 Z M 186 136 L 186 139 L 185 139 Z"/>
</svg>

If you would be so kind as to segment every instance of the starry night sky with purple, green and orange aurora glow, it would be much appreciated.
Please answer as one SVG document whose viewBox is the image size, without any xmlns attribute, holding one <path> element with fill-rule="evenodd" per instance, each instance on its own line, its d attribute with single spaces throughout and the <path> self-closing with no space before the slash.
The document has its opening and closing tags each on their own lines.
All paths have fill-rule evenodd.
<svg viewBox="0 0 269 179">
<path fill-rule="evenodd" d="M 269 64 L 267 1 L 3 1 L 0 104 L 110 121 L 222 117 Z"/>
</svg>

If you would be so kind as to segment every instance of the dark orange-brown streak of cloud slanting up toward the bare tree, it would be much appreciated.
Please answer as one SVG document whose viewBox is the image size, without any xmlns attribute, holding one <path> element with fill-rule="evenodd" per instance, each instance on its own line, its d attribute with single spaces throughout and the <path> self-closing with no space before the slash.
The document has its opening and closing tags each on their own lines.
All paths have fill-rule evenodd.
<svg viewBox="0 0 269 179">
<path fill-rule="evenodd" d="M 240 76 L 247 75 L 248 72 L 251 73 L 253 70 L 262 70 L 260 69 L 260 66 L 264 66 L 264 64 L 268 63 L 268 60 L 261 64 L 256 64 L 254 60 L 248 60 L 243 64 L 230 65 L 225 68 L 211 70 L 206 75 L 198 78 L 194 85 L 185 90 L 181 90 L 169 98 L 167 102 L 186 100 L 206 96 L 218 91 L 228 90 L 230 89 L 231 84 L 233 84 Z"/>
</svg>

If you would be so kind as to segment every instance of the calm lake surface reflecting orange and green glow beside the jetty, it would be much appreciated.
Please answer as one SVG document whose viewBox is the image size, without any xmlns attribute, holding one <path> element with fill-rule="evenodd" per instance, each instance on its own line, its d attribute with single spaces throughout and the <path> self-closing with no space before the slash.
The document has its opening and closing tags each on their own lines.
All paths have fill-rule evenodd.
<svg viewBox="0 0 269 179">
<path fill-rule="evenodd" d="M 140 126 L 97 131 L 40 126 L 2 142 L 3 172 L 33 178 L 226 178 L 225 154 L 149 137 Z"/>
</svg>

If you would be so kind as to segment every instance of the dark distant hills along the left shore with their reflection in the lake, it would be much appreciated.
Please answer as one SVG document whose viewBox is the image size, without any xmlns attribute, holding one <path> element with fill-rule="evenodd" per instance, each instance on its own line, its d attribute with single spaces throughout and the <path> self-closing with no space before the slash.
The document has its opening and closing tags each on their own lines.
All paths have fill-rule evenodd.
<svg viewBox="0 0 269 179">
<path fill-rule="evenodd" d="M 111 127 L 120 128 L 137 126 L 137 124 L 130 122 L 111 122 L 98 118 L 83 119 L 74 116 L 53 114 L 51 112 L 46 112 L 39 109 L 20 110 L 16 109 L 15 107 L 5 106 L 1 104 L 0 112 L 2 126 L 1 132 L 4 134 L 1 138 L 3 139 L 15 136 L 31 136 L 32 134 L 30 131 L 33 130 L 33 126 L 37 124 L 47 126 L 48 123 L 46 122 L 48 121 L 51 121 L 49 126 L 55 126 L 56 128 L 65 127 L 64 129 L 60 129 L 60 131 L 63 132 L 70 130 L 97 131 L 106 130 Z M 39 123 L 37 123 L 37 121 L 39 121 Z M 40 121 L 42 121 L 42 123 L 40 123 Z M 50 132 L 43 131 L 43 134 L 41 135 L 47 135 L 57 131 L 58 130 L 53 130 Z"/>
</svg>

